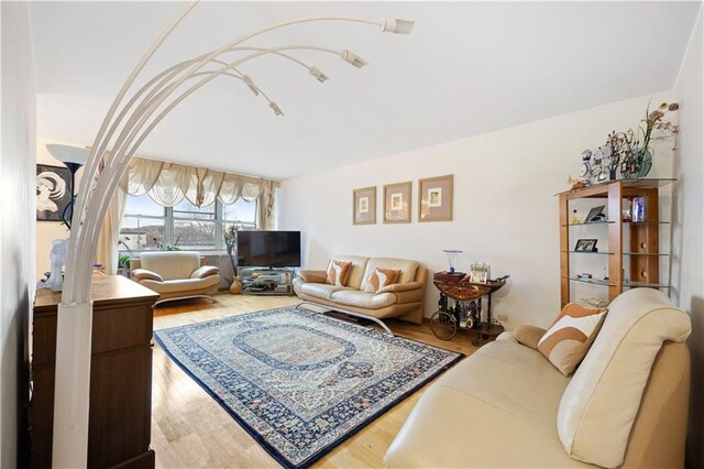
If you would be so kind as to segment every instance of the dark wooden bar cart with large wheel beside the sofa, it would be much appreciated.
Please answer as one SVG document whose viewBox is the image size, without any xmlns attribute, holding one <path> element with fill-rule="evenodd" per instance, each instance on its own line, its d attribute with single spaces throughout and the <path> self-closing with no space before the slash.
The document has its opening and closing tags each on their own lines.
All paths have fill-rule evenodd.
<svg viewBox="0 0 704 469">
<path fill-rule="evenodd" d="M 438 310 L 430 318 L 430 329 L 439 339 L 450 340 L 459 329 L 469 331 L 475 347 L 493 340 L 504 326 L 492 315 L 492 294 L 506 285 L 510 275 L 486 283 L 470 282 L 461 272 L 437 272 L 432 283 L 440 291 Z M 482 298 L 487 297 L 486 320 L 482 320 Z M 452 302 L 450 302 L 452 301 Z"/>
</svg>

